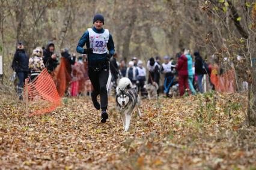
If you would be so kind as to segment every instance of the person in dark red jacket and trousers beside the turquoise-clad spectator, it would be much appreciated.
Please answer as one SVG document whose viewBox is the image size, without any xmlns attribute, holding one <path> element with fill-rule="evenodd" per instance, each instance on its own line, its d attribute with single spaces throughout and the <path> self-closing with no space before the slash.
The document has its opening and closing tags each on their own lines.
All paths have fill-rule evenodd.
<svg viewBox="0 0 256 170">
<path fill-rule="evenodd" d="M 187 72 L 187 57 L 183 54 L 177 54 L 178 64 L 176 69 L 178 71 L 178 89 L 180 96 L 183 96 L 185 89 L 189 89 L 188 72 Z"/>
</svg>

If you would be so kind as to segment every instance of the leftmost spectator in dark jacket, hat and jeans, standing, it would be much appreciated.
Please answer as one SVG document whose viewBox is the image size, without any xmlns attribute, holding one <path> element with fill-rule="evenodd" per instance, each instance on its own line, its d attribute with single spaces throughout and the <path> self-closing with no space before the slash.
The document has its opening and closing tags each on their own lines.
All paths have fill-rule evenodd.
<svg viewBox="0 0 256 170">
<path fill-rule="evenodd" d="M 16 72 L 17 77 L 19 78 L 19 83 L 17 84 L 17 93 L 19 95 L 19 99 L 22 99 L 23 86 L 29 72 L 28 54 L 24 50 L 24 45 L 22 41 L 18 42 L 17 44 L 17 49 L 14 54 L 11 67 Z"/>
</svg>

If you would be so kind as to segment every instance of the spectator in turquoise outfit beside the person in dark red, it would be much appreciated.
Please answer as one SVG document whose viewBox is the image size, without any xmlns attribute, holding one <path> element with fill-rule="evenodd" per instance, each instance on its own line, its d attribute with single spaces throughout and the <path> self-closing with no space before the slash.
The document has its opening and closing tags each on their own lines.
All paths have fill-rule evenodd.
<svg viewBox="0 0 256 170">
<path fill-rule="evenodd" d="M 192 95 L 195 95 L 195 89 L 193 85 L 194 80 L 194 72 L 193 72 L 193 59 L 189 54 L 189 50 L 184 50 L 184 55 L 187 57 L 187 71 L 188 71 L 188 81 L 189 81 L 189 89 L 192 92 Z"/>
</svg>

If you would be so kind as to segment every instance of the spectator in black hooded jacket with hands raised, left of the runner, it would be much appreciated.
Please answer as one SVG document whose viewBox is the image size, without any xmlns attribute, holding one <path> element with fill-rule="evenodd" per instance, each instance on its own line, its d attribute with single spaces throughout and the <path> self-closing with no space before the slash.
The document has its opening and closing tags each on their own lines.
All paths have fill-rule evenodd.
<svg viewBox="0 0 256 170">
<path fill-rule="evenodd" d="M 51 73 L 58 65 L 58 56 L 54 54 L 54 51 L 55 45 L 53 42 L 49 42 L 43 50 L 43 63 L 49 73 Z"/>
</svg>

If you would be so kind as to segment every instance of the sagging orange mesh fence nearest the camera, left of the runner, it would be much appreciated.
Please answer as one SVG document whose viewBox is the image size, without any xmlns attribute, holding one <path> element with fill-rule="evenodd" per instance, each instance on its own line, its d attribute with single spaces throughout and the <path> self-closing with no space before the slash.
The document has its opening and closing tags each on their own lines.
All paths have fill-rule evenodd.
<svg viewBox="0 0 256 170">
<path fill-rule="evenodd" d="M 29 116 L 49 113 L 61 105 L 61 98 L 47 69 L 30 82 L 29 78 L 26 78 L 23 94 Z"/>
</svg>

